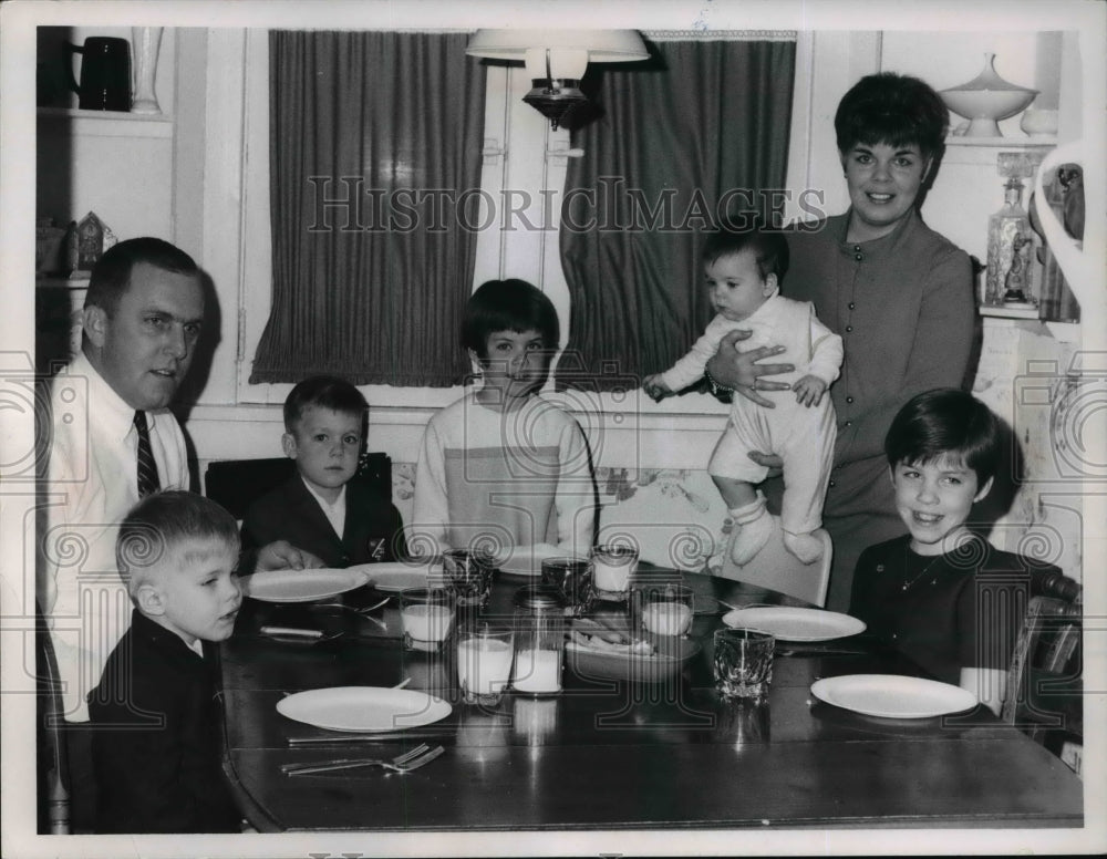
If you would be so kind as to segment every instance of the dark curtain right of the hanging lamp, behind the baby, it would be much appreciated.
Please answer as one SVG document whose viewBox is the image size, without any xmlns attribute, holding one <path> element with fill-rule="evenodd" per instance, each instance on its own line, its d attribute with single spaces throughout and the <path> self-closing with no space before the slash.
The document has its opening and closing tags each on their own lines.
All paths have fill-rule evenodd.
<svg viewBox="0 0 1107 859">
<path fill-rule="evenodd" d="M 712 318 L 702 234 L 782 213 L 795 42 L 659 42 L 608 66 L 573 135 L 561 262 L 571 294 L 558 386 L 625 387 L 669 368 Z M 778 217 L 778 216 L 777 216 Z"/>
</svg>

